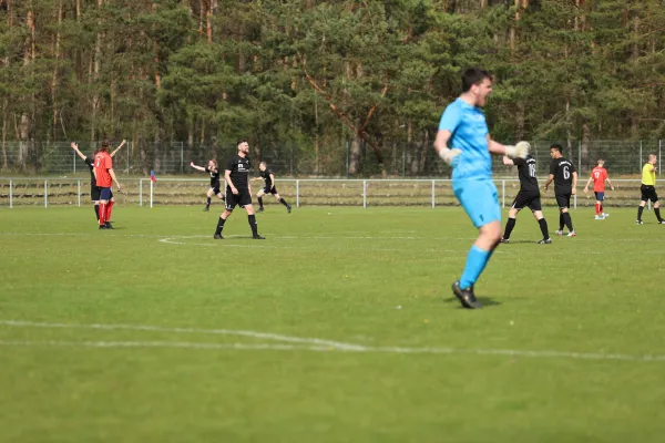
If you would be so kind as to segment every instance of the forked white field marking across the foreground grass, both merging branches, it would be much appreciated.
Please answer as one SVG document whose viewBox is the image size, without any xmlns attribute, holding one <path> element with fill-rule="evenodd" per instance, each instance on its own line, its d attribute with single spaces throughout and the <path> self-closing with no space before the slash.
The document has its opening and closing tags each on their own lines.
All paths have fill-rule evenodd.
<svg viewBox="0 0 665 443">
<path fill-rule="evenodd" d="M 371 347 L 362 344 L 341 343 L 316 338 L 299 338 L 274 333 L 227 330 L 227 329 L 194 329 L 194 328 L 162 328 L 153 326 L 132 324 L 69 324 L 40 323 L 31 321 L 0 320 L 0 324 L 27 328 L 68 328 L 68 329 L 105 329 L 105 330 L 140 330 L 162 332 L 195 332 L 212 334 L 247 336 L 287 343 L 209 343 L 182 341 L 61 341 L 61 340 L 0 340 L 6 347 L 72 347 L 72 348 L 171 348 L 171 349 L 204 349 L 204 350 L 275 350 L 275 351 L 316 351 L 316 352 L 357 352 L 357 353 L 392 353 L 392 354 L 460 354 L 460 356 L 500 356 L 541 359 L 571 360 L 612 360 L 632 362 L 665 362 L 665 356 L 631 356 L 621 353 L 598 352 L 564 352 L 564 351 L 529 351 L 516 349 L 459 349 L 459 348 L 405 348 L 405 347 Z"/>
</svg>

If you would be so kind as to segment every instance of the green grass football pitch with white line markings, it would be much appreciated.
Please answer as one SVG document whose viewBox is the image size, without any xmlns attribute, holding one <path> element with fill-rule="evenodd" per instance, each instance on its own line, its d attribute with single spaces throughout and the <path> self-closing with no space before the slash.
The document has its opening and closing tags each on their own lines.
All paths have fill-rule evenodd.
<svg viewBox="0 0 665 443">
<path fill-rule="evenodd" d="M 0 209 L 0 441 L 663 441 L 652 213 L 521 214 L 468 311 L 460 208 L 219 208 Z"/>
</svg>

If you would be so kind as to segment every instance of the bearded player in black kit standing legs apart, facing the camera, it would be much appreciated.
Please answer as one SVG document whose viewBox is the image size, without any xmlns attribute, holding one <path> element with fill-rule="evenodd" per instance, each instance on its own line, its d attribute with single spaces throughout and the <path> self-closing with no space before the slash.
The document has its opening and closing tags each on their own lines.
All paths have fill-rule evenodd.
<svg viewBox="0 0 665 443">
<path fill-rule="evenodd" d="M 254 206 L 252 206 L 252 187 L 249 186 L 248 177 L 250 165 L 249 158 L 247 158 L 249 145 L 246 140 L 242 138 L 238 140 L 237 146 L 238 153 L 226 162 L 226 171 L 224 171 L 224 179 L 228 185 L 226 187 L 226 209 L 219 216 L 217 229 L 215 229 L 213 238 L 216 240 L 224 238 L 222 237 L 222 229 L 224 229 L 226 219 L 231 217 L 233 209 L 237 205 L 247 212 L 247 219 L 252 228 L 252 238 L 263 240 L 265 237 L 258 235 L 256 215 L 254 215 Z"/>
</svg>

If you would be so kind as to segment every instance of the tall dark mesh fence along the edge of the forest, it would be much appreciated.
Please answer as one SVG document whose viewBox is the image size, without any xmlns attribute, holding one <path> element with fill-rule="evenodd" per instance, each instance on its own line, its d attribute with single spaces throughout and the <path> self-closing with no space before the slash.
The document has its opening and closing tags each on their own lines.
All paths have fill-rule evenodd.
<svg viewBox="0 0 665 443">
<path fill-rule="evenodd" d="M 536 159 L 536 171 L 543 176 L 549 172 L 550 146 L 555 141 L 533 141 L 532 154 Z M 117 145 L 119 143 L 116 143 Z M 595 166 L 597 158 L 605 159 L 611 176 L 640 174 L 649 153 L 662 157 L 663 141 L 590 141 L 586 143 L 561 143 L 564 156 L 579 169 L 583 177 Z M 80 143 L 80 150 L 91 155 L 94 145 Z M 260 152 L 250 153 L 254 166 L 257 161 L 266 161 L 278 176 L 289 177 L 349 177 L 351 176 L 351 143 L 342 141 L 339 146 L 319 150 L 311 146 L 296 146 L 293 143 L 267 143 Z M 430 145 L 387 143 L 381 151 L 382 165 L 371 150 L 360 146 L 357 165 L 358 177 L 437 177 L 449 178 L 450 168 L 437 156 Z M 183 142 L 129 143 L 114 157 L 115 171 L 120 175 L 196 175 L 200 172 L 190 167 L 190 162 L 205 165 L 209 158 L 225 159 L 235 155 L 235 144 L 212 146 L 187 146 Z M 515 174 L 514 168 L 493 156 L 493 169 L 499 176 Z M 661 159 L 658 159 L 661 162 Z M 6 174 L 59 174 L 84 176 L 88 168 L 79 158 L 69 142 L 8 142 L 2 145 L 0 171 Z M 658 174 L 661 174 L 658 164 Z"/>
</svg>

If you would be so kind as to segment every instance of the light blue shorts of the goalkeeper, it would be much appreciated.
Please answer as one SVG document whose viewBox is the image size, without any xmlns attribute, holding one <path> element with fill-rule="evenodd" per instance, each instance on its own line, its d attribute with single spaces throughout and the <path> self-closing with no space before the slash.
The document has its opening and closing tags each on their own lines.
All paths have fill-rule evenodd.
<svg viewBox="0 0 665 443">
<path fill-rule="evenodd" d="M 453 181 L 452 192 L 477 228 L 501 222 L 499 193 L 491 179 Z"/>
</svg>

